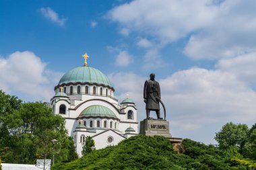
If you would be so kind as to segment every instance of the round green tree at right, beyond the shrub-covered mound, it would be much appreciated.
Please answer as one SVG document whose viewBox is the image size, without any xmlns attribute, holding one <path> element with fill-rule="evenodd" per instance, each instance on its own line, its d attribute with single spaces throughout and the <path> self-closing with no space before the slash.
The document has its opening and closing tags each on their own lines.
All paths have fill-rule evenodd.
<svg viewBox="0 0 256 170">
<path fill-rule="evenodd" d="M 249 128 L 247 124 L 233 124 L 229 122 L 222 126 L 220 132 L 216 133 L 215 140 L 220 144 L 220 148 L 226 150 L 229 146 L 235 146 L 238 151 L 242 151 L 248 138 Z"/>
</svg>

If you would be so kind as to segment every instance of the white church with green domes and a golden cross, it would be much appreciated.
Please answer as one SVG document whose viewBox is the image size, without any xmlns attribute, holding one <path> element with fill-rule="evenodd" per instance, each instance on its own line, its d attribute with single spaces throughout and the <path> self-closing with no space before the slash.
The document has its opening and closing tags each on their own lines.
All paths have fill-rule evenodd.
<svg viewBox="0 0 256 170">
<path fill-rule="evenodd" d="M 51 99 L 54 114 L 65 118 L 79 156 L 86 136 L 92 136 L 99 149 L 138 134 L 135 103 L 128 96 L 119 103 L 106 75 L 87 65 L 88 57 L 84 54 L 84 66 L 61 77 Z"/>
</svg>

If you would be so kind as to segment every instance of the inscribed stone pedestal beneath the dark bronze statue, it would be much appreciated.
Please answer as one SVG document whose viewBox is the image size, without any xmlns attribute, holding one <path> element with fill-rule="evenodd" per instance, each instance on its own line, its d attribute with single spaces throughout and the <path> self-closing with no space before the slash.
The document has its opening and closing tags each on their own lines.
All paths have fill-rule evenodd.
<svg viewBox="0 0 256 170">
<path fill-rule="evenodd" d="M 158 119 L 144 119 L 140 122 L 139 134 L 146 136 L 164 136 L 171 138 L 169 122 Z"/>
</svg>

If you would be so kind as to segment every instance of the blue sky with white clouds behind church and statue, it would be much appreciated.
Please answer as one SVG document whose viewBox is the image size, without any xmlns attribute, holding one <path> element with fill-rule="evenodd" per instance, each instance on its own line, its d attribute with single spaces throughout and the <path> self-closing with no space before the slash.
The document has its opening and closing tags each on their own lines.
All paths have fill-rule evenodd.
<svg viewBox="0 0 256 170">
<path fill-rule="evenodd" d="M 61 76 L 88 64 L 146 117 L 156 73 L 174 137 L 216 143 L 227 122 L 256 122 L 255 0 L 0 1 L 0 89 L 49 101 Z M 152 116 L 155 114 L 152 112 Z"/>
</svg>

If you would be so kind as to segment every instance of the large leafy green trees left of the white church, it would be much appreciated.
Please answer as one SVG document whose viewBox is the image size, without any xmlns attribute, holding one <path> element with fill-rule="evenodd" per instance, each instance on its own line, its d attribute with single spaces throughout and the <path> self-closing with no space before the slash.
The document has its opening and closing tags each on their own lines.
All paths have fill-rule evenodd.
<svg viewBox="0 0 256 170">
<path fill-rule="evenodd" d="M 0 102 L 0 151 L 5 163 L 52 159 L 54 138 L 59 141 L 55 146 L 55 162 L 77 158 L 73 140 L 65 130 L 65 119 L 53 115 L 46 104 L 21 103 L 2 91 L 0 98 L 4 100 L 4 104 Z"/>
</svg>

